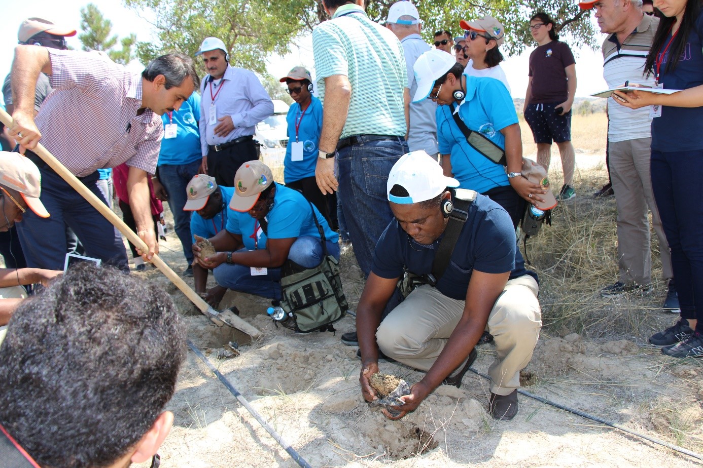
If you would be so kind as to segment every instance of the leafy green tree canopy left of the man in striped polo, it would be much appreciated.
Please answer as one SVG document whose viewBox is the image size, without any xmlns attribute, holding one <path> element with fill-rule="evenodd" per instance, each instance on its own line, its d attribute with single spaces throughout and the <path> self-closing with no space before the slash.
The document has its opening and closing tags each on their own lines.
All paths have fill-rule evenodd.
<svg viewBox="0 0 703 468">
<path fill-rule="evenodd" d="M 161 53 L 195 55 L 208 36 L 229 49 L 230 62 L 266 74 L 266 56 L 285 55 L 291 42 L 317 24 L 315 0 L 125 0 L 135 11 L 149 11 L 156 42 L 137 44 L 146 63 Z"/>
</svg>

